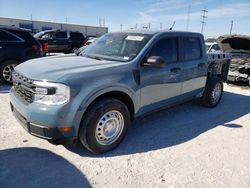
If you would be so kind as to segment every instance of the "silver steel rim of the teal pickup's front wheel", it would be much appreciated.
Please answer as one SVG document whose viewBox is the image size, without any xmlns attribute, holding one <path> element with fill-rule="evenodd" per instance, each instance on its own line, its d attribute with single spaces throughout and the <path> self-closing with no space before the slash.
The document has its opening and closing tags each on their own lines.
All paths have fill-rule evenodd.
<svg viewBox="0 0 250 188">
<path fill-rule="evenodd" d="M 116 110 L 109 111 L 97 123 L 95 130 L 96 140 L 101 145 L 110 145 L 118 140 L 123 128 L 123 115 Z"/>
</svg>

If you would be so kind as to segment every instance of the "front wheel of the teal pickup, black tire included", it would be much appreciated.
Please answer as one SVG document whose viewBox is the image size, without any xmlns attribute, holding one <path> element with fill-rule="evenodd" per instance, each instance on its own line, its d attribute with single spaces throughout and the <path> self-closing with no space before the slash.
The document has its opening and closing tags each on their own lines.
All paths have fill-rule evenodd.
<svg viewBox="0 0 250 188">
<path fill-rule="evenodd" d="M 112 112 L 115 113 L 112 114 Z M 118 117 L 116 113 L 118 114 Z M 105 120 L 105 118 L 103 117 L 106 117 L 106 114 L 110 116 L 107 115 L 107 119 Z M 108 120 L 109 118 L 110 120 Z M 108 122 L 111 121 L 112 118 L 116 120 L 120 119 L 119 122 L 123 122 L 123 127 L 121 128 L 119 134 L 117 135 L 116 139 L 113 140 L 112 143 L 102 144 L 105 142 L 112 141 L 110 138 L 107 138 L 104 135 L 104 133 L 106 133 L 104 131 L 105 127 L 107 125 L 110 126 Z M 100 121 L 103 120 L 106 122 L 102 123 L 101 125 Z M 89 151 L 96 154 L 104 153 L 116 148 L 122 142 L 123 138 L 127 133 L 129 123 L 130 113 L 127 106 L 123 102 L 114 98 L 102 98 L 94 102 L 85 113 L 81 122 L 79 139 L 81 143 L 85 146 L 85 148 L 87 148 Z M 119 126 L 114 126 L 114 124 L 112 124 L 111 127 L 113 128 Z M 103 129 L 102 131 L 101 128 Z M 98 131 L 100 131 L 101 133 L 103 132 L 103 134 Z M 102 135 L 104 135 L 103 138 Z"/>
</svg>

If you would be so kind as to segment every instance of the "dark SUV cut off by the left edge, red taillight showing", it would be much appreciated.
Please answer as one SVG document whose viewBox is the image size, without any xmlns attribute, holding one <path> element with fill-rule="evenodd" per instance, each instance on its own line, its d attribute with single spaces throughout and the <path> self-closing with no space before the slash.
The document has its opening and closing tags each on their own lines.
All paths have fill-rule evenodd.
<svg viewBox="0 0 250 188">
<path fill-rule="evenodd" d="M 4 83 L 12 83 L 16 65 L 37 57 L 41 57 L 41 44 L 30 30 L 0 26 L 0 79 Z"/>
</svg>

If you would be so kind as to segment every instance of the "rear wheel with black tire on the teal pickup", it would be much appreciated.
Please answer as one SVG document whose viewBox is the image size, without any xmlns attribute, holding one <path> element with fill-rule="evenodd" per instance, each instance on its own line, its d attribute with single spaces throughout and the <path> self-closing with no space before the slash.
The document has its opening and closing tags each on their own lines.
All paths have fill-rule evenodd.
<svg viewBox="0 0 250 188">
<path fill-rule="evenodd" d="M 223 95 L 222 80 L 218 77 L 209 78 L 203 96 L 201 98 L 202 104 L 210 108 L 216 107 L 219 104 L 222 95 Z"/>
</svg>

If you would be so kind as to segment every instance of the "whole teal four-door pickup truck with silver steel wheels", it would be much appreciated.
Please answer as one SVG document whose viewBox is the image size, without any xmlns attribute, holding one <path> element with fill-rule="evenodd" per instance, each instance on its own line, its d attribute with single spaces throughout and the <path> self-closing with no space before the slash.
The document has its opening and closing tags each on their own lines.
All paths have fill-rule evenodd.
<svg viewBox="0 0 250 188">
<path fill-rule="evenodd" d="M 58 144 L 79 139 L 103 153 L 138 116 L 193 98 L 215 107 L 229 64 L 227 54 L 206 53 L 199 33 L 108 33 L 78 56 L 17 66 L 10 105 L 30 134 Z"/>
</svg>

